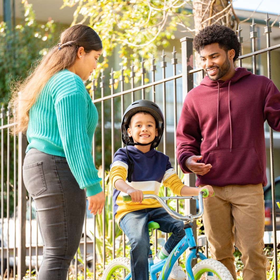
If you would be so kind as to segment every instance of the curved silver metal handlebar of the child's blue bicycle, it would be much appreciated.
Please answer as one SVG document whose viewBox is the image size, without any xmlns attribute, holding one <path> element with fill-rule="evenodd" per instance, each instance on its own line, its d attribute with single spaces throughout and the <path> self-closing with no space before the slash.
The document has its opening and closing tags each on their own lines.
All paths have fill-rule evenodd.
<svg viewBox="0 0 280 280">
<path fill-rule="evenodd" d="M 147 198 L 152 198 L 157 200 L 160 205 L 167 211 L 167 213 L 174 219 L 179 220 L 179 221 L 191 221 L 191 220 L 197 220 L 202 217 L 203 215 L 203 202 L 202 202 L 202 196 L 205 195 L 204 192 L 200 192 L 198 197 L 195 198 L 194 196 L 175 196 L 175 197 L 159 197 L 154 194 L 144 194 L 144 199 Z M 197 199 L 198 200 L 198 207 L 199 207 L 199 213 L 197 215 L 192 215 L 188 214 L 188 216 L 181 216 L 180 214 L 173 212 L 167 204 L 164 202 L 164 200 L 169 200 L 169 199 Z M 131 201 L 130 195 L 124 195 L 123 196 L 123 201 Z"/>
</svg>

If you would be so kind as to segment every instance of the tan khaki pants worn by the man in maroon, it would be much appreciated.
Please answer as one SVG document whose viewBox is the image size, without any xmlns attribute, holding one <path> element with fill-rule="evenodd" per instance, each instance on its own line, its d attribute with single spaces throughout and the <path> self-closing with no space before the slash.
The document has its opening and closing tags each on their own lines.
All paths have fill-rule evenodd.
<svg viewBox="0 0 280 280">
<path fill-rule="evenodd" d="M 262 184 L 213 189 L 214 197 L 204 199 L 202 217 L 212 258 L 223 263 L 236 279 L 235 245 L 242 254 L 243 280 L 267 279 Z"/>
</svg>

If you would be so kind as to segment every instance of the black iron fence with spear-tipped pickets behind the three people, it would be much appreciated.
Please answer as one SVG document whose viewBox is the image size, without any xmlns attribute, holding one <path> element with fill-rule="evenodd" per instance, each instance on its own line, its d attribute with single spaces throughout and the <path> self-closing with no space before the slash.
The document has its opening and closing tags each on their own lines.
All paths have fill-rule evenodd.
<svg viewBox="0 0 280 280">
<path fill-rule="evenodd" d="M 256 50 L 255 24 L 252 22 L 252 52 L 239 56 L 239 66 L 242 59 L 252 57 L 253 73 L 256 73 L 256 56 L 267 53 L 267 72 L 271 78 L 270 52 L 279 49 L 280 45 L 270 46 L 269 19 L 266 19 L 265 33 L 267 36 L 267 48 Z M 242 43 L 241 29 L 238 29 L 238 38 Z M 134 100 L 150 99 L 155 101 L 161 108 L 165 119 L 165 130 L 162 143 L 158 149 L 166 153 L 178 171 L 176 161 L 176 125 L 181 111 L 183 98 L 194 87 L 195 73 L 204 72 L 202 68 L 193 69 L 193 46 L 192 38 L 181 39 L 181 60 L 176 58 L 175 48 L 168 53 L 171 59 L 165 59 L 166 53 L 162 52 L 162 60 L 158 63 L 151 59 L 150 71 L 145 69 L 142 60 L 139 68 L 139 79 L 131 65 L 129 76 L 125 76 L 124 67 L 120 70 L 120 76 L 114 78 L 111 70 L 109 87 L 106 85 L 105 72 L 101 72 L 100 84 L 97 81 L 90 90 L 92 101 L 99 110 L 99 123 L 94 135 L 93 157 L 94 162 L 100 164 L 100 176 L 102 188 L 106 193 L 106 205 L 102 215 L 85 216 L 83 236 L 75 260 L 69 271 L 69 279 L 101 279 L 102 270 L 106 263 L 117 256 L 127 256 L 129 253 L 128 241 L 125 235 L 115 224 L 112 216 L 112 186 L 109 183 L 108 166 L 113 160 L 116 150 L 123 147 L 121 141 L 120 123 L 125 108 Z M 172 72 L 166 75 L 166 69 Z M 171 70 L 172 69 L 172 70 Z M 156 79 L 156 77 L 160 77 Z M 145 83 L 145 81 L 148 82 Z M 118 87 L 116 87 L 118 84 Z M 9 130 L 15 123 L 10 123 L 10 108 L 1 108 L 1 278 L 8 279 L 32 279 L 31 272 L 35 270 L 34 279 L 37 279 L 37 271 L 42 258 L 43 244 L 38 233 L 38 224 L 35 219 L 34 203 L 28 197 L 22 181 L 22 162 L 26 149 L 26 138 L 21 134 L 11 137 Z M 274 153 L 273 132 L 270 129 L 270 158 L 271 158 L 271 182 L 273 201 L 273 232 L 276 236 L 276 209 L 275 209 L 275 186 L 274 186 Z M 179 172 L 179 171 L 178 171 Z M 185 176 L 187 185 L 195 185 L 194 174 Z M 160 190 L 167 195 L 167 189 Z M 194 213 L 196 206 L 193 204 L 171 205 L 177 211 Z M 195 231 L 194 231 L 195 232 Z M 155 232 L 155 248 L 161 246 L 160 242 L 167 239 L 167 235 Z M 277 271 L 276 238 L 274 239 L 274 263 Z M 26 274 L 26 270 L 29 270 Z M 18 276 L 16 276 L 18 275 Z M 79 278 L 78 278 L 79 277 Z M 277 279 L 277 272 L 275 273 Z"/>
</svg>

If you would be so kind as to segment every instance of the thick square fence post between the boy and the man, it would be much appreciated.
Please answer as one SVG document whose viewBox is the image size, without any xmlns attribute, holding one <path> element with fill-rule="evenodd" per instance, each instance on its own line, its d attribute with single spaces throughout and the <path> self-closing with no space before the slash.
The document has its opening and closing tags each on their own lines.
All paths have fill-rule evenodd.
<svg viewBox="0 0 280 280">
<path fill-rule="evenodd" d="M 188 73 L 193 70 L 193 38 L 184 37 L 181 40 L 182 49 L 182 90 L 183 90 L 183 102 L 187 93 L 193 88 L 193 73 Z M 184 181 L 187 186 L 195 186 L 195 174 L 185 174 Z M 196 201 L 193 199 L 185 200 L 185 213 L 196 214 Z M 196 221 L 193 222 L 193 235 L 197 239 L 196 233 Z M 187 251 L 188 252 L 188 251 Z M 192 266 L 197 263 L 197 260 L 192 261 Z"/>
</svg>

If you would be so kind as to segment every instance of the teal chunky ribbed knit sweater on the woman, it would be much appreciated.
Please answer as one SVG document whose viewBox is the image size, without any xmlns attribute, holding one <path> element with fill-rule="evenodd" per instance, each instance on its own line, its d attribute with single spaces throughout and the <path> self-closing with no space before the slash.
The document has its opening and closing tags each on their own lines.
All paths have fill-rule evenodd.
<svg viewBox="0 0 280 280">
<path fill-rule="evenodd" d="M 76 74 L 62 70 L 46 83 L 29 111 L 27 151 L 36 148 L 66 157 L 70 170 L 87 196 L 102 191 L 92 158 L 97 109 Z"/>
</svg>

